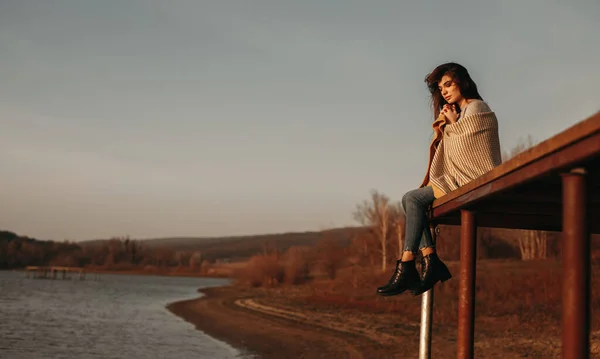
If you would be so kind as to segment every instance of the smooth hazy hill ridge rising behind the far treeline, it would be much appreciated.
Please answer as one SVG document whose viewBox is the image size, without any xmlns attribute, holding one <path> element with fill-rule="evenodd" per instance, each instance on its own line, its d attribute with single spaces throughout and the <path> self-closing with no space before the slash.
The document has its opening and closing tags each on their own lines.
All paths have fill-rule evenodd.
<svg viewBox="0 0 600 359">
<path fill-rule="evenodd" d="M 265 248 L 285 251 L 292 246 L 314 246 L 324 238 L 347 245 L 352 238 L 367 231 L 363 227 L 342 227 L 324 231 L 288 232 L 228 237 L 171 237 L 138 240 L 146 248 L 168 248 L 174 251 L 200 251 L 209 260 L 244 260 Z M 82 246 L 100 246 L 106 240 L 79 242 Z"/>
</svg>

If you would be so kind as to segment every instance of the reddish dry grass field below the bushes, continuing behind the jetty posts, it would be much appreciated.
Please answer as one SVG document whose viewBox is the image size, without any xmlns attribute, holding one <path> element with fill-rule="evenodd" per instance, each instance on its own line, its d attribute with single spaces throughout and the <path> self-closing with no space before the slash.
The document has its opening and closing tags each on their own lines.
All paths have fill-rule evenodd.
<svg viewBox="0 0 600 359">
<path fill-rule="evenodd" d="M 459 263 L 447 264 L 454 278 L 436 286 L 434 346 L 450 348 L 455 355 Z M 421 298 L 375 295 L 376 287 L 387 282 L 391 270 L 381 273 L 377 267 L 346 267 L 333 280 L 324 275 L 303 285 L 264 289 L 257 300 L 278 310 L 300 313 L 317 324 L 381 338 L 382 345 L 415 346 Z M 600 265 L 594 264 L 592 271 L 592 353 L 600 355 Z M 478 355 L 559 357 L 561 283 L 561 265 L 554 260 L 479 261 L 475 309 Z M 436 357 L 444 355 L 438 353 Z"/>
</svg>

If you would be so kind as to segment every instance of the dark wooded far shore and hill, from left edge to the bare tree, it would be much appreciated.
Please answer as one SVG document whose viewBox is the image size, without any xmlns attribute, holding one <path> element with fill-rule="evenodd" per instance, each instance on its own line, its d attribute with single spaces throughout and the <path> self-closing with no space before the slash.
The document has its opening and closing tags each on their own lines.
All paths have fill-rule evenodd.
<svg viewBox="0 0 600 359">
<path fill-rule="evenodd" d="M 107 270 L 178 269 L 203 273 L 215 263 L 245 261 L 265 251 L 284 252 L 291 247 L 315 247 L 323 239 L 346 247 L 361 227 L 335 228 L 320 232 L 281 233 L 212 239 L 108 240 L 69 242 L 38 240 L 10 231 L 0 231 L 0 269 L 26 266 L 73 266 Z M 158 242 L 158 243 L 157 243 Z"/>
</svg>

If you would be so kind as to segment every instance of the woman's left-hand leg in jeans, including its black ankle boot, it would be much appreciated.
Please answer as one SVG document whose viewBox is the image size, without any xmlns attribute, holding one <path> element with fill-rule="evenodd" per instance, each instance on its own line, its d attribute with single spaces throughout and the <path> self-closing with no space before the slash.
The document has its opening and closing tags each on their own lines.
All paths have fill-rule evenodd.
<svg viewBox="0 0 600 359">
<path fill-rule="evenodd" d="M 433 246 L 431 234 L 428 233 L 429 231 L 425 233 L 424 228 L 427 226 L 427 208 L 434 199 L 431 187 L 412 190 L 402 197 L 402 206 L 406 212 L 404 252 L 402 258 L 396 262 L 396 269 L 389 282 L 377 288 L 378 294 L 396 295 L 406 290 L 414 292 L 420 288 L 421 279 L 415 266 L 414 255 L 419 247 L 431 248 Z M 427 235 L 429 235 L 428 238 Z"/>
</svg>

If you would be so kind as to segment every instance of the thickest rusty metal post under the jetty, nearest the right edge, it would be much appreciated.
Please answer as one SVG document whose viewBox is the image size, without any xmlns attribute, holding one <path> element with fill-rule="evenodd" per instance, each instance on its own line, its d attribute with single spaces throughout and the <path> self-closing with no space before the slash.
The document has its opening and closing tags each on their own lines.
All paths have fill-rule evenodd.
<svg viewBox="0 0 600 359">
<path fill-rule="evenodd" d="M 590 355 L 590 232 L 584 170 L 562 175 L 562 357 Z"/>
</svg>

